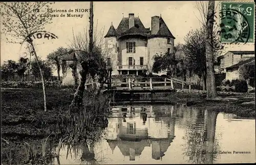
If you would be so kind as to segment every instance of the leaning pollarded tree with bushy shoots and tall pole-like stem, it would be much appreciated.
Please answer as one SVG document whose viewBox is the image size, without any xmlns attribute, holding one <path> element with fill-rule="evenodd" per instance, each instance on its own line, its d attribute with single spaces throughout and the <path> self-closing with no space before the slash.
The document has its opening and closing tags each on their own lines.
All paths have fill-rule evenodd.
<svg viewBox="0 0 256 165">
<path fill-rule="evenodd" d="M 84 32 L 84 35 L 79 33 L 79 35 L 77 35 L 76 37 L 73 33 L 74 39 L 72 41 L 72 44 L 70 45 L 71 49 L 76 53 L 75 56 L 76 56 L 78 65 L 81 66 L 81 70 L 79 71 L 80 82 L 74 94 L 74 98 L 70 105 L 70 108 L 82 107 L 84 88 L 89 75 L 93 79 L 97 77 L 101 85 L 104 84 L 104 82 L 106 81 L 109 75 L 106 67 L 106 61 L 105 61 L 106 55 L 105 55 L 105 52 L 102 50 L 103 33 L 100 32 L 98 35 L 96 35 L 96 33 L 93 33 L 93 30 L 92 30 L 93 2 L 91 2 L 90 7 L 91 9 L 90 9 L 89 37 L 87 35 L 88 34 L 87 31 Z"/>
</svg>

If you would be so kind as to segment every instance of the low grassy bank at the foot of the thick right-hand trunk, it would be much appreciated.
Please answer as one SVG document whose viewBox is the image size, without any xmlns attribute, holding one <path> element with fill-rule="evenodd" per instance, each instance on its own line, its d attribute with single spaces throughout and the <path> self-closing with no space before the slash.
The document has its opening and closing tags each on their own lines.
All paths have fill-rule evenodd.
<svg viewBox="0 0 256 165">
<path fill-rule="evenodd" d="M 220 100 L 207 100 L 206 94 L 175 93 L 168 98 L 174 103 L 187 103 L 200 109 L 236 114 L 243 118 L 255 119 L 255 103 L 243 104 L 254 101 L 254 93 L 220 93 Z"/>
</svg>

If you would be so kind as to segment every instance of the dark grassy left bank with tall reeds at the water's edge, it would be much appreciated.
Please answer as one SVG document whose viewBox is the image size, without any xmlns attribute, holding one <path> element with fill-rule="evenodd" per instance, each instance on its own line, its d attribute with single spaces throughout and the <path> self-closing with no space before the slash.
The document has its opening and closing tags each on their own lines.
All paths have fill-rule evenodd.
<svg viewBox="0 0 256 165">
<path fill-rule="evenodd" d="M 1 90 L 4 164 L 49 164 L 52 156 L 57 155 L 60 139 L 75 144 L 82 140 L 90 143 L 100 137 L 101 130 L 108 126 L 109 98 L 95 97 L 87 91 L 83 111 L 70 114 L 74 92 L 47 89 L 48 111 L 44 112 L 40 89 Z"/>
</svg>

